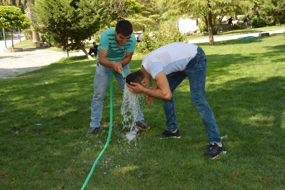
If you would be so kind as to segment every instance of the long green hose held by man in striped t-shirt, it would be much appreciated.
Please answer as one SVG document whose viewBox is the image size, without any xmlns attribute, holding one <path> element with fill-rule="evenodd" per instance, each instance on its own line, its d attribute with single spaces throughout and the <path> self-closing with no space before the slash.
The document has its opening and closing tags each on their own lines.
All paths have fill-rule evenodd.
<svg viewBox="0 0 285 190">
<path fill-rule="evenodd" d="M 125 73 L 121 70 L 122 72 L 122 77 L 126 78 L 126 75 Z M 91 168 L 91 171 L 89 172 L 83 186 L 81 187 L 81 190 L 84 190 L 85 187 L 87 186 L 92 174 L 93 174 L 93 171 L 95 169 L 95 166 L 97 164 L 97 162 L 99 161 L 99 159 L 102 157 L 103 153 L 105 152 L 105 150 L 107 149 L 107 146 L 109 145 L 109 142 L 110 142 L 110 139 L 111 139 L 111 134 L 112 134 L 112 127 L 113 127 L 113 72 L 111 72 L 111 78 L 110 78 L 110 127 L 109 127 L 109 133 L 108 133 L 108 139 L 107 139 L 107 142 L 103 148 L 103 150 L 100 152 L 99 156 L 96 158 L 95 162 L 93 163 L 93 166 Z"/>
</svg>

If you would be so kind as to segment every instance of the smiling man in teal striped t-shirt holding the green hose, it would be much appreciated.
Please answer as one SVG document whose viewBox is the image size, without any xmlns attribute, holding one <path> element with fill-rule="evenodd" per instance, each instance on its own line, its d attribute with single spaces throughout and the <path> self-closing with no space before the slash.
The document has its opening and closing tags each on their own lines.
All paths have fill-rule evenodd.
<svg viewBox="0 0 285 190">
<path fill-rule="evenodd" d="M 97 54 L 97 66 L 94 76 L 94 94 L 91 102 L 91 123 L 90 128 L 85 133 L 89 136 L 99 131 L 100 121 L 102 119 L 103 99 L 109 83 L 111 71 L 119 82 L 122 89 L 125 87 L 125 80 L 122 77 L 121 70 L 125 75 L 131 73 L 128 63 L 130 63 L 133 53 L 136 49 L 136 37 L 133 34 L 133 25 L 127 20 L 121 20 L 117 23 L 116 29 L 105 30 L 100 38 L 100 44 Z M 136 126 L 140 130 L 150 129 L 143 118 L 141 108 L 138 105 L 138 117 Z"/>
</svg>

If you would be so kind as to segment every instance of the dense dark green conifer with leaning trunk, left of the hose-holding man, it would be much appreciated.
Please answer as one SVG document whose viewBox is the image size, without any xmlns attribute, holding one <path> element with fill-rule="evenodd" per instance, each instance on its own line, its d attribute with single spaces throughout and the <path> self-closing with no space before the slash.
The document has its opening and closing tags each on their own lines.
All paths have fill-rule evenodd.
<svg viewBox="0 0 285 190">
<path fill-rule="evenodd" d="M 103 0 L 37 0 L 33 7 L 37 29 L 58 47 L 85 50 L 85 40 L 99 31 L 105 23 Z M 68 42 L 71 42 L 70 44 Z"/>
</svg>

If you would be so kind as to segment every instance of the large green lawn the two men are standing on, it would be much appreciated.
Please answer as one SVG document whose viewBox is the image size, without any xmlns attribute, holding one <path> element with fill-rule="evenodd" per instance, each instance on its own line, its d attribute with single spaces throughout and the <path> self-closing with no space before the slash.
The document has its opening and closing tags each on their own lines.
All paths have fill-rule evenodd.
<svg viewBox="0 0 285 190">
<path fill-rule="evenodd" d="M 174 93 L 181 139 L 155 137 L 165 129 L 162 103 L 148 106 L 143 99 L 151 130 L 128 144 L 114 79 L 111 142 L 86 189 L 285 189 L 284 41 L 285 34 L 274 34 L 199 44 L 207 55 L 206 98 L 221 135 L 228 135 L 227 154 L 214 160 L 202 157 L 207 136 L 189 81 Z M 133 57 L 132 72 L 142 59 Z M 0 189 L 81 188 L 109 128 L 107 89 L 101 130 L 84 136 L 95 66 L 85 56 L 63 58 L 0 80 Z"/>
</svg>

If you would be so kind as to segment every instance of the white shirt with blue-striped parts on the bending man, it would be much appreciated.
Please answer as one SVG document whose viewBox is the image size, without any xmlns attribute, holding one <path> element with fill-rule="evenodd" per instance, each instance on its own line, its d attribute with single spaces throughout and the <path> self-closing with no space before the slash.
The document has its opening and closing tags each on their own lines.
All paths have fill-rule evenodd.
<svg viewBox="0 0 285 190">
<path fill-rule="evenodd" d="M 183 71 L 197 54 L 197 48 L 197 45 L 190 43 L 170 43 L 148 53 L 143 58 L 142 66 L 154 79 L 161 71 L 165 75 Z"/>
</svg>

